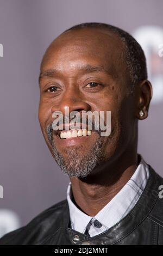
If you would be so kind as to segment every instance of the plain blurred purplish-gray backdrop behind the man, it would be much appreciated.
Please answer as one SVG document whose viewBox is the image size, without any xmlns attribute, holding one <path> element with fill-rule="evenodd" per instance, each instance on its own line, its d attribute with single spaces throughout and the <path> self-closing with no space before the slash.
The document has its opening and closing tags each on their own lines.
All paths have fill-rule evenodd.
<svg viewBox="0 0 163 256">
<path fill-rule="evenodd" d="M 0 1 L 0 235 L 66 197 L 68 178 L 53 161 L 37 120 L 39 65 L 46 47 L 81 22 L 110 23 L 130 33 L 142 26 L 162 28 L 162 13 L 161 0 Z M 160 98 L 139 125 L 139 153 L 163 176 L 161 71 L 159 76 Z"/>
</svg>

